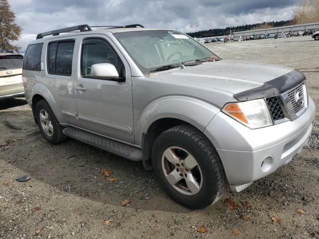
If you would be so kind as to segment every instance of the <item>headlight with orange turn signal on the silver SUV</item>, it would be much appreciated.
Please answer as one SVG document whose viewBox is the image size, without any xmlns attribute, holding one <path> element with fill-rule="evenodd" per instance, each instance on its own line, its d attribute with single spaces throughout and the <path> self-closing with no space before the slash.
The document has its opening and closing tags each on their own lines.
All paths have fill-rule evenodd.
<svg viewBox="0 0 319 239">
<path fill-rule="evenodd" d="M 250 128 L 260 128 L 273 124 L 264 99 L 228 103 L 222 112 Z"/>
</svg>

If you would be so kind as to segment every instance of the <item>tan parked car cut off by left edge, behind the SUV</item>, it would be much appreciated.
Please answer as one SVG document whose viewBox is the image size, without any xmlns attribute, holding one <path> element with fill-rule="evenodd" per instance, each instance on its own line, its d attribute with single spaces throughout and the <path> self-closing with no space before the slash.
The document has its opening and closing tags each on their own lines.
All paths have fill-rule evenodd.
<svg viewBox="0 0 319 239">
<path fill-rule="evenodd" d="M 23 97 L 23 56 L 14 50 L 0 50 L 0 100 Z"/>
</svg>

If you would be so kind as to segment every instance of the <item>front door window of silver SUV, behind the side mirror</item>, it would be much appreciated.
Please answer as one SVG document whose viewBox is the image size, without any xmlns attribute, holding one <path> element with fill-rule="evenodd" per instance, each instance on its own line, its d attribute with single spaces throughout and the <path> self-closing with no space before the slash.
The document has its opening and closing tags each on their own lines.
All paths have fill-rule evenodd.
<svg viewBox="0 0 319 239">
<path fill-rule="evenodd" d="M 82 76 L 89 77 L 91 66 L 98 63 L 110 63 L 114 65 L 119 76 L 125 77 L 125 69 L 122 60 L 106 41 L 101 39 L 85 39 L 82 45 Z"/>
</svg>

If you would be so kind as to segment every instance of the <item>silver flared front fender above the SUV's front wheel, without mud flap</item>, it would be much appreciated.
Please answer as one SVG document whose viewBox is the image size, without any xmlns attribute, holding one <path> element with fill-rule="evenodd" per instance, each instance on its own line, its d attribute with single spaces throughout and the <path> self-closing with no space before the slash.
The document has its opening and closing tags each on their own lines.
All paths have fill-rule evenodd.
<svg viewBox="0 0 319 239">
<path fill-rule="evenodd" d="M 142 145 L 143 134 L 158 119 L 173 118 L 186 121 L 203 131 L 220 111 L 205 101 L 186 96 L 167 96 L 153 101 L 141 113 L 136 127 L 136 144 Z"/>
</svg>

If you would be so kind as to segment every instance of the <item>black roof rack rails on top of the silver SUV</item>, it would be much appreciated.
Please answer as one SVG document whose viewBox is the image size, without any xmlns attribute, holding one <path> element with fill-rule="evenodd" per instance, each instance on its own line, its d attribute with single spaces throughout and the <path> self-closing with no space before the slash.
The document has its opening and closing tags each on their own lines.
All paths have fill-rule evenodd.
<svg viewBox="0 0 319 239">
<path fill-rule="evenodd" d="M 84 25 L 78 25 L 78 26 L 71 26 L 71 27 L 66 27 L 66 28 L 62 28 L 62 29 L 57 29 L 57 30 L 53 30 L 53 31 L 47 31 L 47 32 L 43 32 L 43 33 L 39 33 L 36 36 L 36 39 L 41 39 L 44 36 L 58 36 L 60 33 L 64 33 L 64 32 L 74 32 L 74 31 L 92 31 L 91 27 L 107 27 L 108 29 L 111 28 L 133 28 L 133 27 L 143 27 L 143 25 L 141 24 L 132 24 L 132 25 L 124 25 L 124 26 L 89 26 L 87 24 Z"/>
</svg>

